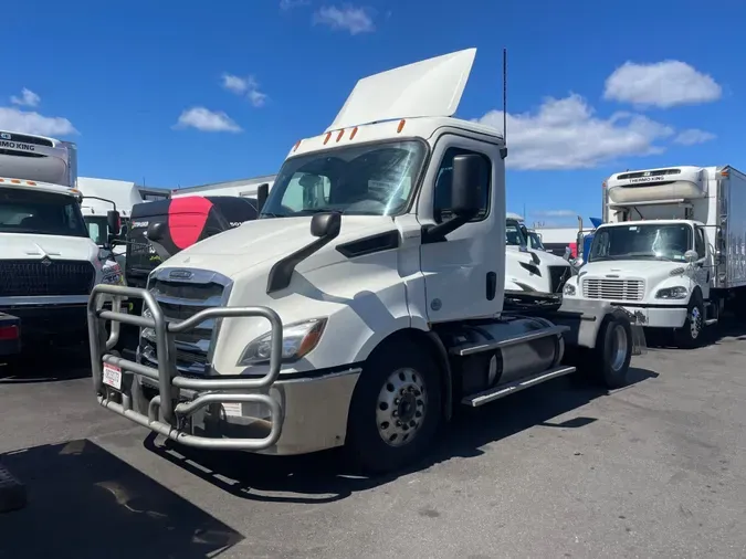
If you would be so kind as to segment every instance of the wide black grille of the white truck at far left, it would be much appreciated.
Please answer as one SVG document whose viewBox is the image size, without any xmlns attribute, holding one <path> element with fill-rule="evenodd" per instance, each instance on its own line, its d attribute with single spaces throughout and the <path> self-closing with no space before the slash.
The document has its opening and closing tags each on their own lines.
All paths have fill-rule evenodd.
<svg viewBox="0 0 746 559">
<path fill-rule="evenodd" d="M 0 297 L 88 295 L 95 278 L 90 262 L 0 260 Z"/>
</svg>

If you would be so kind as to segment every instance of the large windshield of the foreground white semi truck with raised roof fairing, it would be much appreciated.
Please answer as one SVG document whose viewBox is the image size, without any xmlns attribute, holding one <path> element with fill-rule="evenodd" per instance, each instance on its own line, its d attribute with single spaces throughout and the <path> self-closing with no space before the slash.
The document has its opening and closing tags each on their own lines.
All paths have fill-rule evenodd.
<svg viewBox="0 0 746 559">
<path fill-rule="evenodd" d="M 422 141 L 406 140 L 293 157 L 280 169 L 262 217 L 324 211 L 401 213 L 412 196 L 425 151 Z"/>
</svg>

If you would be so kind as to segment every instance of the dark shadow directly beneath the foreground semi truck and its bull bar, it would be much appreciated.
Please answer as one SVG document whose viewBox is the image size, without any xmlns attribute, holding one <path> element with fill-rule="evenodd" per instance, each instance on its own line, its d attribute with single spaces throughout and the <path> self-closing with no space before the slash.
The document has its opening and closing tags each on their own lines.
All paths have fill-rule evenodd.
<svg viewBox="0 0 746 559">
<path fill-rule="evenodd" d="M 631 383 L 628 388 L 656 377 L 658 373 L 647 369 L 631 368 Z M 502 439 L 534 426 L 581 429 L 597 419 L 579 416 L 556 422 L 554 418 L 607 393 L 578 387 L 571 378 L 560 378 L 484 408 L 461 409 L 443 433 L 435 451 L 427 460 L 409 471 L 377 478 L 356 475 L 342 450 L 284 457 L 241 452 L 206 452 L 177 445 L 153 434 L 147 436 L 144 444 L 160 457 L 235 497 L 260 502 L 322 504 L 344 499 L 355 492 L 386 484 L 413 472 L 427 474 L 429 468 L 441 462 L 479 456 L 484 453 L 486 445 L 498 443 Z"/>
</svg>

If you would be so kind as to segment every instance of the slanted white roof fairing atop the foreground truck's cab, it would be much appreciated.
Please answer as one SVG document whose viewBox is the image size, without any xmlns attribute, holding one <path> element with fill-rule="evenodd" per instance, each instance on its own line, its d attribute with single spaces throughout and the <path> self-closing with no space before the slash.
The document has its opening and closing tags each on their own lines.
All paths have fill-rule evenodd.
<svg viewBox="0 0 746 559">
<path fill-rule="evenodd" d="M 475 56 L 476 49 L 466 49 L 364 77 L 325 131 L 398 118 L 453 116 Z"/>
</svg>

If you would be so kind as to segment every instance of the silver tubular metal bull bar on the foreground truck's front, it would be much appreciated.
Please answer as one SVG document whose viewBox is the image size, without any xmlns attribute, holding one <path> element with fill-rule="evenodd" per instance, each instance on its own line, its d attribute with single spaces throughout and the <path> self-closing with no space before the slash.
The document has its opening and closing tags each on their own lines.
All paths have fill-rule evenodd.
<svg viewBox="0 0 746 559">
<path fill-rule="evenodd" d="M 104 308 L 104 298 L 111 302 L 112 310 Z M 122 313 L 124 297 L 140 298 L 151 317 L 135 316 Z M 91 367 L 93 384 L 98 403 L 104 408 L 123 415 L 151 431 L 167 436 L 187 446 L 209 450 L 261 451 L 273 446 L 282 434 L 283 411 L 277 400 L 258 390 L 271 387 L 280 376 L 282 366 L 283 327 L 280 316 L 269 307 L 210 307 L 181 321 L 167 321 L 162 309 L 154 295 L 147 289 L 123 285 L 94 286 L 87 306 L 88 338 L 91 345 Z M 249 317 L 266 318 L 271 324 L 272 354 L 266 375 L 252 379 L 189 378 L 178 373 L 176 366 L 175 335 L 195 329 L 201 323 L 216 318 Z M 106 320 L 111 320 L 111 334 L 106 339 Z M 149 367 L 112 355 L 109 351 L 119 339 L 120 324 L 153 328 L 156 337 L 156 355 L 158 367 Z M 118 367 L 122 371 L 122 390 L 104 384 L 103 363 Z M 132 386 L 125 382 L 125 376 L 136 380 L 146 377 L 158 383 L 158 394 L 148 405 L 147 415 L 133 409 Z M 192 390 L 195 399 L 178 402 L 179 390 Z M 221 390 L 246 390 L 246 393 L 225 393 Z M 120 398 L 117 398 L 117 394 Z M 120 400 L 117 401 L 117 400 Z M 185 420 L 197 411 L 217 403 L 258 403 L 264 404 L 271 412 L 270 433 L 263 439 L 208 437 L 186 432 Z"/>
</svg>

